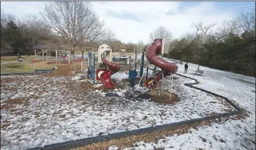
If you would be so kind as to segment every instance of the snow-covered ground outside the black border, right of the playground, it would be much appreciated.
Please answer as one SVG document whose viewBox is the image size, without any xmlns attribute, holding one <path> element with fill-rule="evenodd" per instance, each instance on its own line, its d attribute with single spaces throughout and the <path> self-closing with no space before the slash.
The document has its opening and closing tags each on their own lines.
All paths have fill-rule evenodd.
<svg viewBox="0 0 256 150">
<path fill-rule="evenodd" d="M 194 75 L 197 65 L 189 63 L 187 74 L 184 65 L 177 64 L 178 73 L 193 77 L 201 87 L 231 99 L 240 107 L 249 111 L 249 117 L 229 120 L 225 123 L 211 123 L 211 126 L 191 129 L 191 133 L 173 135 L 160 139 L 157 143 L 134 143 L 128 149 L 255 149 L 255 78 L 227 71 L 201 66 L 203 76 Z M 205 139 L 205 141 L 203 139 Z"/>
</svg>

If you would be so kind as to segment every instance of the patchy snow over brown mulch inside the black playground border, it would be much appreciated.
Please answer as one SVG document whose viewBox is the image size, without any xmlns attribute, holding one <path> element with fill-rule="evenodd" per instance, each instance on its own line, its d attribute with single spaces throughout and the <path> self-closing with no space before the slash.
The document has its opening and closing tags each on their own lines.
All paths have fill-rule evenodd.
<svg viewBox="0 0 256 150">
<path fill-rule="evenodd" d="M 135 99 L 139 93 L 127 89 L 115 89 L 119 97 L 106 97 L 89 83 L 74 80 L 79 77 L 1 77 L 1 149 L 26 149 L 233 109 L 223 99 L 184 85 L 193 80 L 175 77 L 173 91 L 181 99 L 175 105 Z"/>
</svg>

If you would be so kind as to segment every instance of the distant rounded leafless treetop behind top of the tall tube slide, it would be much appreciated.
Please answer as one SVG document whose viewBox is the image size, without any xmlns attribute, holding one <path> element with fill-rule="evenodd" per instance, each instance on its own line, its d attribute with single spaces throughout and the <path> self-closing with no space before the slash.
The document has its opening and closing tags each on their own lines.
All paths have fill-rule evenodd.
<svg viewBox="0 0 256 150">
<path fill-rule="evenodd" d="M 163 38 L 168 38 L 168 39 L 173 38 L 171 31 L 169 31 L 163 26 L 157 27 L 157 29 L 155 29 L 153 33 L 149 34 L 149 39 L 151 40 L 151 42 L 153 42 L 154 39 L 163 39 Z"/>
</svg>

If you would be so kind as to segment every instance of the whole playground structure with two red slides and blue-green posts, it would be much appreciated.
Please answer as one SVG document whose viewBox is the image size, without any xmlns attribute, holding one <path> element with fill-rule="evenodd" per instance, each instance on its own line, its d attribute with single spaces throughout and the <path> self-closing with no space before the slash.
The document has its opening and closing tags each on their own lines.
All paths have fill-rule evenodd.
<svg viewBox="0 0 256 150">
<path fill-rule="evenodd" d="M 147 57 L 147 73 L 146 73 L 146 81 L 144 83 L 145 87 L 148 89 L 155 88 L 157 83 L 162 80 L 162 85 L 161 85 L 161 91 L 160 95 L 163 91 L 163 78 L 166 76 L 171 75 L 169 77 L 169 91 L 171 92 L 171 86 L 172 86 L 172 75 L 175 74 L 178 70 L 177 65 L 175 63 L 169 63 L 168 61 L 165 61 L 163 59 L 163 54 L 164 53 L 169 53 L 169 45 L 170 45 L 170 40 L 169 39 L 155 39 L 154 43 L 147 49 L 146 52 L 146 57 Z M 135 51 L 135 47 L 138 47 L 138 50 Z M 131 69 L 131 66 L 137 69 L 137 52 L 141 53 L 141 45 L 135 45 L 134 46 L 134 52 L 135 52 L 135 61 L 132 61 L 131 56 L 130 57 L 116 57 L 115 55 L 112 57 L 112 49 L 106 45 L 103 44 L 99 46 L 98 49 L 98 55 L 95 55 L 95 53 L 89 53 L 88 54 L 88 60 L 89 60 L 89 69 L 88 73 L 89 76 L 93 79 L 93 84 L 95 84 L 95 78 L 97 81 L 101 81 L 103 83 L 104 88 L 111 89 L 114 88 L 115 85 L 111 81 L 111 75 L 116 73 L 121 69 L 121 65 L 124 64 L 119 64 L 117 62 L 118 59 L 124 59 L 125 60 L 125 65 L 129 65 L 129 69 Z M 158 57 L 158 55 L 161 54 L 161 57 Z M 99 56 L 101 58 L 99 59 Z M 138 85 L 143 86 L 142 84 L 142 79 L 144 76 L 143 73 L 143 68 L 144 68 L 144 63 L 145 63 L 145 53 L 142 52 L 140 63 L 141 63 L 141 69 L 139 76 L 141 77 Z M 154 77 L 149 77 L 148 78 L 148 69 L 149 69 L 149 64 L 152 64 L 155 66 L 153 73 Z M 157 71 L 157 67 L 161 69 L 161 71 Z M 97 69 L 95 71 L 95 69 Z M 96 77 L 95 77 L 96 76 Z M 170 86 L 171 84 L 171 86 Z M 137 87 L 138 88 L 138 87 Z M 171 95 L 171 93 L 170 93 Z M 171 99 L 171 97 L 170 97 Z"/>
</svg>

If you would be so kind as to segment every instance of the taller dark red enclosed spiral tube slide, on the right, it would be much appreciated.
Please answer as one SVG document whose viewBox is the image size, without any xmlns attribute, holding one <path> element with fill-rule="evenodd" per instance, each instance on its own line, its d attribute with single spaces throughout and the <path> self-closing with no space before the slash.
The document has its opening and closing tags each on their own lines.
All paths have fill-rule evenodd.
<svg viewBox="0 0 256 150">
<path fill-rule="evenodd" d="M 155 40 L 155 42 L 152 43 L 152 45 L 147 49 L 147 53 L 146 53 L 147 60 L 149 61 L 149 63 L 161 68 L 163 71 L 164 77 L 167 75 L 170 75 L 170 73 L 172 73 L 172 74 L 177 73 L 177 71 L 178 71 L 177 65 L 175 65 L 174 63 L 169 63 L 168 61 L 161 59 L 160 57 L 157 56 L 159 53 L 161 53 L 161 39 Z M 159 71 L 157 73 L 156 81 L 152 80 L 154 78 L 149 78 L 145 82 L 145 86 L 150 89 L 155 87 L 157 85 L 156 83 L 163 78 L 162 71 Z M 152 82 L 150 82 L 150 81 L 152 81 Z M 151 87 L 149 87 L 150 83 L 153 83 L 153 84 L 151 84 Z"/>
</svg>

